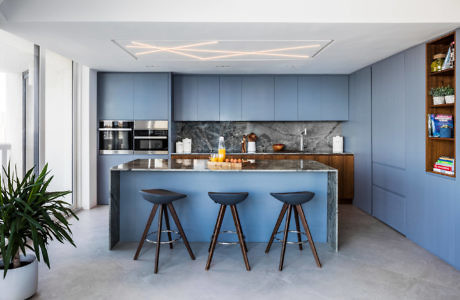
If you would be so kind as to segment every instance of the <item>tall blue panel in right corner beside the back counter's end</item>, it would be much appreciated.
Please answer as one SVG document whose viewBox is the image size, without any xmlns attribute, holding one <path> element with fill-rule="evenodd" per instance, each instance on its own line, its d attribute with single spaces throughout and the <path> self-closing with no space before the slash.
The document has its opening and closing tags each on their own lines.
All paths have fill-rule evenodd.
<svg viewBox="0 0 460 300">
<path fill-rule="evenodd" d="M 353 204 L 372 213 L 371 68 L 349 79 L 349 121 L 342 123 L 345 151 L 355 156 Z"/>
</svg>

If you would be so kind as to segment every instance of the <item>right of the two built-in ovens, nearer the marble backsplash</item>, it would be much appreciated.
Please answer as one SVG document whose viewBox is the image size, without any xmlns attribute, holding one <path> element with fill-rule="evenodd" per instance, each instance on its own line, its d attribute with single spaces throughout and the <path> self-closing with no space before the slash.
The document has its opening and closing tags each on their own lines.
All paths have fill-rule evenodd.
<svg viewBox="0 0 460 300">
<path fill-rule="evenodd" d="M 168 121 L 134 121 L 135 154 L 168 154 Z"/>
</svg>

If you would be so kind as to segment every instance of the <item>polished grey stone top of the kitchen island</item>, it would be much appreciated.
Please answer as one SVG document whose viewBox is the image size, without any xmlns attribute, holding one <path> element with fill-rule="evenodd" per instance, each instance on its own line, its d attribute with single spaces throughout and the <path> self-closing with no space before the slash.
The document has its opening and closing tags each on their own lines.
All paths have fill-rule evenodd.
<svg viewBox="0 0 460 300">
<path fill-rule="evenodd" d="M 210 170 L 206 159 L 136 159 L 111 171 L 193 171 L 193 172 L 337 172 L 314 160 L 255 160 L 241 170 Z"/>
</svg>

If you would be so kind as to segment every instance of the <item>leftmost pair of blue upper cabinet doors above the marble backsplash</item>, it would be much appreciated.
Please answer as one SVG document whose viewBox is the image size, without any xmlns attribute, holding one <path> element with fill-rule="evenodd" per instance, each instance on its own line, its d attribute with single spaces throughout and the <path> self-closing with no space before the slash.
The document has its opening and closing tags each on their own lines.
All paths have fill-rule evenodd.
<svg viewBox="0 0 460 300">
<path fill-rule="evenodd" d="M 218 121 L 219 77 L 174 76 L 174 120 Z"/>
</svg>

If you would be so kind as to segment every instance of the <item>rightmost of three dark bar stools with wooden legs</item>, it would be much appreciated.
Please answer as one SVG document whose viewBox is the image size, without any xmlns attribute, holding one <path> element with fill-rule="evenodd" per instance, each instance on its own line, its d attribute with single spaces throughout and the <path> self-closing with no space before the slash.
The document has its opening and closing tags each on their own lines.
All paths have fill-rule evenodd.
<svg viewBox="0 0 460 300">
<path fill-rule="evenodd" d="M 275 235 L 277 235 L 278 233 L 281 233 L 281 231 L 278 232 L 278 228 L 280 227 L 283 217 L 287 211 L 287 216 L 286 216 L 286 221 L 285 221 L 285 226 L 284 226 L 284 236 L 283 236 L 282 247 L 281 247 L 279 270 L 280 271 L 283 270 L 284 253 L 286 251 L 286 244 L 298 244 L 299 249 L 302 250 L 302 244 L 305 243 L 306 241 L 302 241 L 301 234 L 307 235 L 308 243 L 310 243 L 311 252 L 313 253 L 313 256 L 315 257 L 316 265 L 321 268 L 321 262 L 319 261 L 318 254 L 316 253 L 315 243 L 313 242 L 313 238 L 311 237 L 310 229 L 308 228 L 308 224 L 307 224 L 307 219 L 305 218 L 305 214 L 302 209 L 302 204 L 310 201 L 315 196 L 315 193 L 312 193 L 312 192 L 270 193 L 270 195 L 272 195 L 279 201 L 283 202 L 284 204 L 283 204 L 283 207 L 281 208 L 281 212 L 278 217 L 278 220 L 276 221 L 275 228 L 273 229 L 272 235 L 270 237 L 270 241 L 268 242 L 267 248 L 265 249 L 265 253 L 268 253 L 268 251 L 270 251 L 270 247 L 273 243 L 273 240 L 275 239 Z M 292 210 L 294 210 L 296 230 L 289 230 L 289 223 L 291 220 Z M 300 220 L 302 221 L 302 225 L 305 229 L 305 233 L 300 231 L 299 215 L 300 215 Z M 287 241 L 289 232 L 297 233 L 298 242 L 288 242 Z"/>
</svg>

